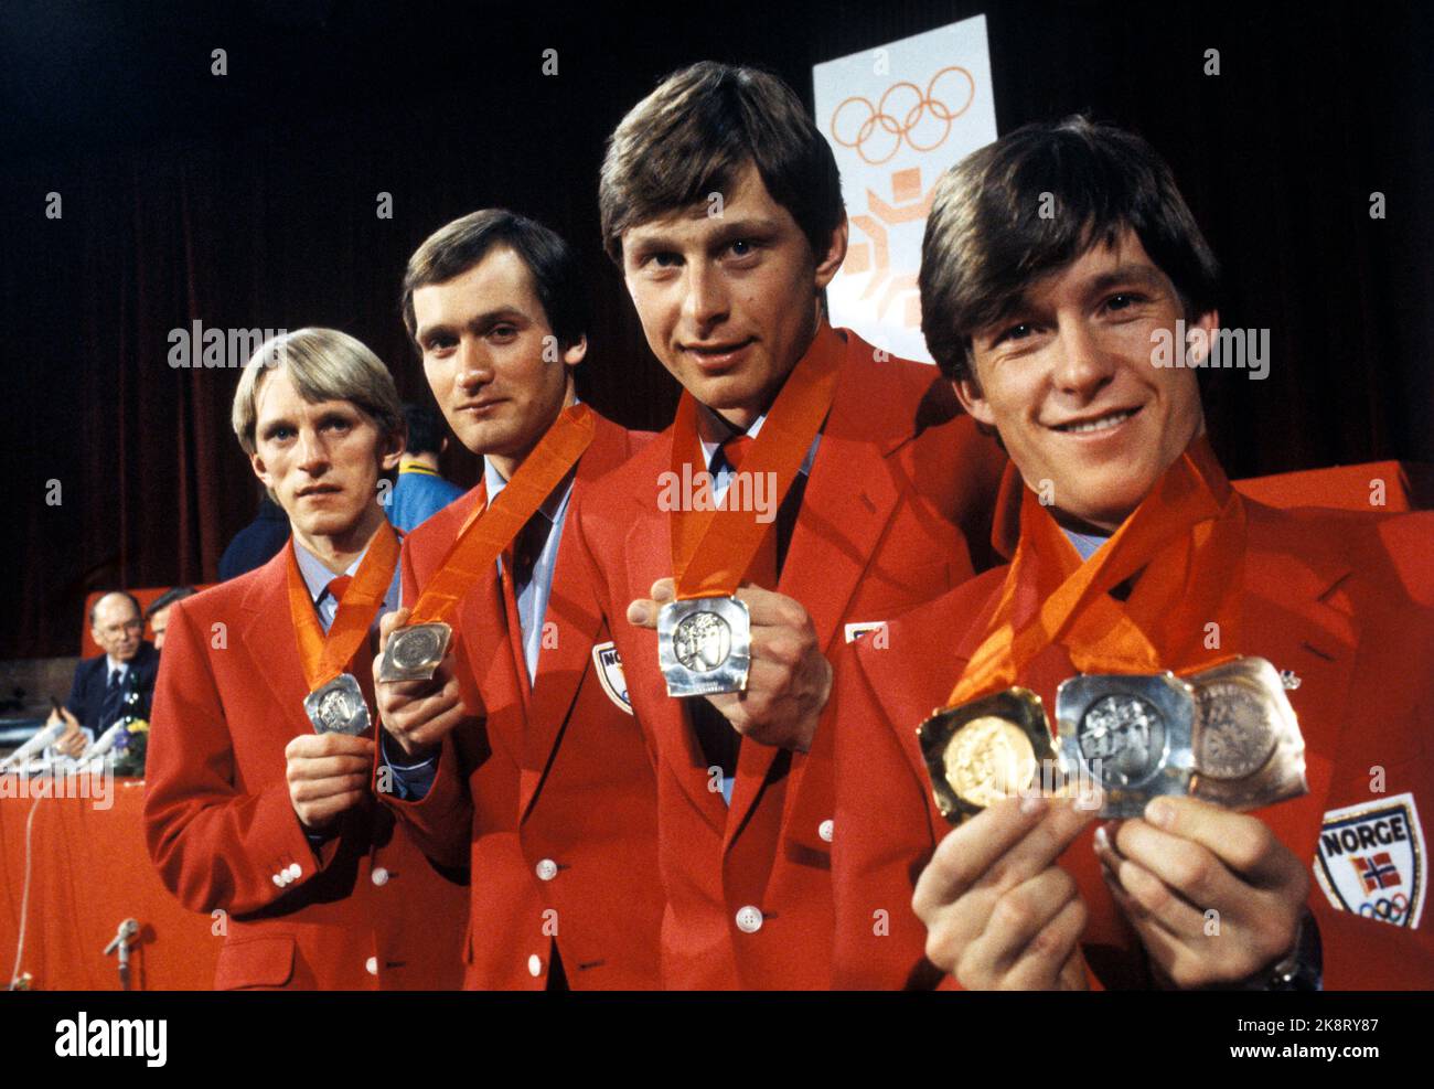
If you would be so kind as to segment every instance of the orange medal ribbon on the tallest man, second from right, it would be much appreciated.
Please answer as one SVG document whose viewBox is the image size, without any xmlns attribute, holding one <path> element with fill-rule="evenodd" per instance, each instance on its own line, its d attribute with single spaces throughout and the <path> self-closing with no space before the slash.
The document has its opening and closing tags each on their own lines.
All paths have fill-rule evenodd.
<svg viewBox="0 0 1434 1089">
<path fill-rule="evenodd" d="M 832 410 L 845 352 L 842 337 L 823 323 L 812 347 L 787 376 L 767 412 L 761 433 L 743 458 L 740 472 L 751 473 L 753 479 L 770 473 L 776 481 L 776 506 L 782 505 L 796 481 L 822 420 Z M 675 479 L 684 479 L 683 469 L 690 463 L 691 452 L 700 449 L 697 400 L 684 392 L 673 420 Z M 731 495 L 728 491 L 726 498 Z M 726 502 L 721 506 L 708 502 L 708 509 L 701 511 L 690 509 L 694 505 L 697 504 L 680 502 L 673 511 L 673 577 L 677 580 L 677 598 L 688 601 L 731 597 L 771 527 L 757 521 L 750 511 L 733 509 Z"/>
</svg>

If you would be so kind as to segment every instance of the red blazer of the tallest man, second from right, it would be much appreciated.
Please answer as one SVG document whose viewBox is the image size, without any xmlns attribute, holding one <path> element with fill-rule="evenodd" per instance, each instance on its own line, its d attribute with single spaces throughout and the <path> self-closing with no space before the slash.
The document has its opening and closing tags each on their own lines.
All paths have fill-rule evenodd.
<svg viewBox="0 0 1434 1089">
<path fill-rule="evenodd" d="M 931 367 L 873 362 L 870 346 L 846 337 L 836 400 L 777 587 L 810 613 L 829 660 L 847 624 L 895 618 L 971 575 L 971 551 L 985 558 L 1005 461 L 959 415 L 949 385 Z M 825 989 L 829 733 L 819 732 L 807 755 L 744 742 L 728 809 L 684 702 L 667 696 L 657 633 L 625 623 L 628 603 L 673 574 L 670 515 L 658 505 L 671 451 L 668 429 L 608 476 L 578 519 L 632 706 L 660 753 L 664 983 Z"/>
</svg>

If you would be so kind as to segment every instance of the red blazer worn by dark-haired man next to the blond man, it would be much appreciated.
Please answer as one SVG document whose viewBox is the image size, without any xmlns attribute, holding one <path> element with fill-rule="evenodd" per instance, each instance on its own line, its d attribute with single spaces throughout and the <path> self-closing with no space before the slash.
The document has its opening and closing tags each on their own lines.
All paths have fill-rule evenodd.
<svg viewBox="0 0 1434 1089">
<path fill-rule="evenodd" d="M 512 584 L 493 565 L 455 624 L 459 682 L 486 720 L 449 735 L 423 801 L 381 795 L 435 858 L 472 865 L 466 987 L 545 987 L 554 941 L 574 989 L 658 986 L 652 756 L 621 700 L 621 667 L 605 666 L 611 636 L 574 528 L 594 482 L 647 438 L 598 416 L 558 545 L 536 682 Z M 479 485 L 407 537 L 404 601 L 483 499 Z"/>
</svg>

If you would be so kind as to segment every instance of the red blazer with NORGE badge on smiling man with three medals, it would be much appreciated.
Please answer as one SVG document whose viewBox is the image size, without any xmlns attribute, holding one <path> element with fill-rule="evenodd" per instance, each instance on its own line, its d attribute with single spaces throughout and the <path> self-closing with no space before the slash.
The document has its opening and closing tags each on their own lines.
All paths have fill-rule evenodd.
<svg viewBox="0 0 1434 1089">
<path fill-rule="evenodd" d="M 1431 987 L 1428 913 L 1418 921 L 1405 911 L 1398 925 L 1361 918 L 1339 910 L 1339 897 L 1322 885 L 1342 890 L 1358 908 L 1354 859 L 1390 851 L 1395 872 L 1385 872 L 1388 888 L 1371 897 L 1371 911 L 1378 900 L 1423 904 L 1428 874 L 1420 819 L 1434 809 L 1434 515 L 1276 511 L 1249 499 L 1246 514 L 1243 646 L 1233 650 L 1299 677 L 1288 694 L 1305 737 L 1309 782 L 1304 798 L 1258 815 L 1322 878 L 1309 905 L 1324 940 L 1324 986 Z M 931 986 L 939 979 L 925 960 L 926 930 L 911 897 L 949 825 L 932 802 L 916 726 L 945 704 L 1004 577 L 1004 568 L 988 571 L 903 617 L 892 624 L 885 650 L 850 647 L 829 707 L 839 723 L 836 986 Z M 1055 647 L 1020 682 L 1050 709 L 1055 686 L 1074 673 Z M 1371 789 L 1375 768 L 1385 772 L 1382 792 Z M 1349 806 L 1359 806 L 1358 814 L 1341 814 Z M 1061 857 L 1090 908 L 1087 963 L 1098 984 L 1150 986 L 1139 938 L 1100 878 L 1093 834 L 1094 825 Z M 1362 847 L 1348 849 L 1342 835 Z"/>
</svg>

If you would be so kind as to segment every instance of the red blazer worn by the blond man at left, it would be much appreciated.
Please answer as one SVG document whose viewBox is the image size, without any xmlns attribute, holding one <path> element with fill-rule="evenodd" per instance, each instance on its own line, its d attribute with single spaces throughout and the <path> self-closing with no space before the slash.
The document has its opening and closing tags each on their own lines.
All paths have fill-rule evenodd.
<svg viewBox="0 0 1434 1089">
<path fill-rule="evenodd" d="M 288 607 L 290 548 L 175 604 L 145 785 L 165 885 L 227 930 L 215 987 L 456 989 L 467 892 L 381 806 L 318 857 L 288 799 L 284 746 L 313 726 Z M 350 663 L 369 673 L 370 651 Z M 370 707 L 373 702 L 370 699 Z"/>
</svg>

